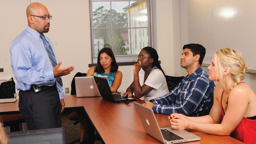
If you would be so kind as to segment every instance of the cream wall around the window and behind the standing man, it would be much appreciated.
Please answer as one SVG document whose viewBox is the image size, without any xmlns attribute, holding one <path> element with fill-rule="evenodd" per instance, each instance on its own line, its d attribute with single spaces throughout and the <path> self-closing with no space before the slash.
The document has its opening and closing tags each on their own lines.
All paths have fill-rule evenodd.
<svg viewBox="0 0 256 144">
<path fill-rule="evenodd" d="M 44 4 L 53 16 L 50 30 L 45 35 L 52 40 L 58 60 L 62 61 L 61 67 L 75 67 L 71 74 L 62 76 L 63 87 L 69 87 L 71 91 L 73 76 L 77 72 L 87 73 L 88 64 L 91 63 L 89 0 L 31 0 L 33 2 Z M 0 1 L 0 13 L 3 15 L 0 24 L 0 68 L 4 69 L 0 76 L 12 74 L 9 45 L 27 26 L 26 8 L 29 4 L 30 0 Z M 185 76 L 187 72 L 180 67 L 179 59 L 182 53 L 179 0 L 155 0 L 153 6 L 155 47 L 162 68 L 167 75 Z M 119 90 L 125 91 L 133 81 L 133 65 L 120 66 L 119 70 L 123 73 Z M 246 83 L 255 83 L 255 75 L 246 74 L 246 77 Z"/>
</svg>

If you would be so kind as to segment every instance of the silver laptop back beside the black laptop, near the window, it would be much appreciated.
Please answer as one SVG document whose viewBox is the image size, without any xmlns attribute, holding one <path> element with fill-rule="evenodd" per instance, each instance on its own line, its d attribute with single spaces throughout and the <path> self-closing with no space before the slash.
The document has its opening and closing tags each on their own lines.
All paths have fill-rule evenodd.
<svg viewBox="0 0 256 144">
<path fill-rule="evenodd" d="M 108 80 L 108 76 L 99 76 Z M 77 97 L 101 96 L 93 76 L 75 77 Z"/>
</svg>

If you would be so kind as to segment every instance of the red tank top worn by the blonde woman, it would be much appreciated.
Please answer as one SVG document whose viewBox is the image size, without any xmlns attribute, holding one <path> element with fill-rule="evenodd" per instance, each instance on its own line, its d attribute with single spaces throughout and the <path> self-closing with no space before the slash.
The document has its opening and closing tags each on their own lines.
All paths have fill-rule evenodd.
<svg viewBox="0 0 256 144">
<path fill-rule="evenodd" d="M 240 83 L 244 83 L 244 82 L 240 82 Z M 221 94 L 221 100 L 220 100 L 220 105 L 221 105 L 221 110 L 222 110 L 222 119 L 225 115 L 223 107 L 222 107 L 223 93 L 224 93 L 224 90 Z M 231 133 L 230 136 L 237 140 L 240 140 L 246 144 L 255 144 L 256 143 L 256 120 L 252 120 L 252 119 L 243 117 L 240 124 Z"/>
</svg>

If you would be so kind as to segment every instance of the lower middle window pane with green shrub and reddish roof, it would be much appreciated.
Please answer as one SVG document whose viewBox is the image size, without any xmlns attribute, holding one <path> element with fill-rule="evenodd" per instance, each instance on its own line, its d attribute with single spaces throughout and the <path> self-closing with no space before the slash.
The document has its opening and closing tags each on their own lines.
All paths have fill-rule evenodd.
<svg viewBox="0 0 256 144">
<path fill-rule="evenodd" d="M 129 29 L 113 29 L 113 52 L 114 55 L 126 55 L 130 53 Z"/>
</svg>

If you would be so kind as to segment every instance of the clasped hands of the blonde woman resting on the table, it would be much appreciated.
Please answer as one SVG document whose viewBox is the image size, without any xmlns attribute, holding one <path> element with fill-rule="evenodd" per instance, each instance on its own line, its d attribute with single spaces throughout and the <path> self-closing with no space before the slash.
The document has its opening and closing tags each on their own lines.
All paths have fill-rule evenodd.
<svg viewBox="0 0 256 144">
<path fill-rule="evenodd" d="M 170 126 L 174 129 L 182 130 L 182 129 L 189 128 L 189 120 L 183 114 L 177 114 L 177 113 L 171 114 L 170 116 L 168 116 L 168 120 L 169 120 Z"/>
</svg>

